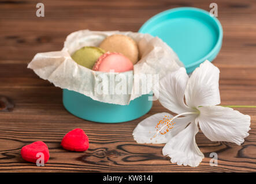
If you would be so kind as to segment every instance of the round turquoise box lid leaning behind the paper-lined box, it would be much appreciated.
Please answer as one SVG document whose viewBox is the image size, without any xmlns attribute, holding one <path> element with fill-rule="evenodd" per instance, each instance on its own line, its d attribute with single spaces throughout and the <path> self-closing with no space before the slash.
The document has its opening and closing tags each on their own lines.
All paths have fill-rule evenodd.
<svg viewBox="0 0 256 184">
<path fill-rule="evenodd" d="M 206 59 L 212 62 L 221 49 L 220 21 L 209 12 L 194 7 L 179 7 L 151 17 L 140 33 L 157 36 L 177 53 L 188 73 Z"/>
</svg>

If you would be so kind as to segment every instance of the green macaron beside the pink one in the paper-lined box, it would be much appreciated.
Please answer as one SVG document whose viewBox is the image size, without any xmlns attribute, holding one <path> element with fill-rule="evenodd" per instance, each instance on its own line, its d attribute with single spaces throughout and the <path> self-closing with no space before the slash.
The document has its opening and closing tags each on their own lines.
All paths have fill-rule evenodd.
<svg viewBox="0 0 256 184">
<path fill-rule="evenodd" d="M 105 51 L 99 47 L 83 47 L 73 53 L 71 57 L 77 64 L 92 69 L 103 53 Z"/>
</svg>

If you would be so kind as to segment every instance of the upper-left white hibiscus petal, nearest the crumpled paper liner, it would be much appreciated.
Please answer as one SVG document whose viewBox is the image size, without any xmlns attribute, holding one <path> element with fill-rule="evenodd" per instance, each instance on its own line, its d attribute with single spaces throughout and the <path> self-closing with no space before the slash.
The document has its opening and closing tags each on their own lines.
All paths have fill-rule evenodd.
<svg viewBox="0 0 256 184">
<path fill-rule="evenodd" d="M 190 112 L 191 110 L 184 103 L 187 81 L 188 75 L 183 67 L 161 79 L 158 98 L 161 105 L 177 114 Z"/>
</svg>

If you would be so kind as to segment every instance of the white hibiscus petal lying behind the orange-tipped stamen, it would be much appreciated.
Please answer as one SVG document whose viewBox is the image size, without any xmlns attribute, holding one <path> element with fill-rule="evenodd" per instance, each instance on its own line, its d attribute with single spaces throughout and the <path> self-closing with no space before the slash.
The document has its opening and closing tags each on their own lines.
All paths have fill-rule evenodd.
<svg viewBox="0 0 256 184">
<path fill-rule="evenodd" d="M 157 129 L 155 128 L 159 121 L 164 118 L 172 118 L 173 116 L 169 113 L 157 113 L 153 116 L 150 116 L 143 121 L 141 121 L 137 127 L 134 129 L 132 135 L 134 140 L 137 143 L 153 143 L 153 144 L 162 144 L 167 143 L 168 140 L 177 135 L 180 131 L 182 131 L 187 125 L 195 120 L 195 115 L 185 116 L 176 118 L 171 125 L 173 128 L 169 129 L 167 133 L 161 135 L 160 133 L 154 137 L 155 133 L 157 133 Z"/>
</svg>

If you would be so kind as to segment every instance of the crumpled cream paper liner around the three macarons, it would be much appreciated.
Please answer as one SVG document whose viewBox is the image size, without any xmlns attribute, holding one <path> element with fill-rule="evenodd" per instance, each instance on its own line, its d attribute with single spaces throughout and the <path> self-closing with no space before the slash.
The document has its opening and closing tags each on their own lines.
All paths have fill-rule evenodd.
<svg viewBox="0 0 256 184">
<path fill-rule="evenodd" d="M 110 74 L 109 72 L 92 71 L 80 66 L 71 58 L 73 52 L 84 46 L 98 45 L 105 37 L 112 34 L 124 34 L 136 41 L 139 48 L 140 60 L 134 65 L 133 71 Z M 135 93 L 135 83 L 139 84 L 139 78 L 132 78 L 133 74 L 159 74 L 159 79 L 169 72 L 176 71 L 183 64 L 180 62 L 176 53 L 158 37 L 150 34 L 119 32 L 119 31 L 90 31 L 79 30 L 66 37 L 64 48 L 61 51 L 37 53 L 34 59 L 28 64 L 28 68 L 42 79 L 46 79 L 54 86 L 62 89 L 73 90 L 78 93 L 91 97 L 94 100 L 110 104 L 128 105 L 132 99 L 138 98 L 143 94 L 149 94 L 158 81 L 153 82 L 147 90 Z M 99 86 L 109 85 L 111 77 L 125 76 L 128 94 L 98 93 Z M 120 86 L 120 83 L 115 83 Z M 137 85 L 138 86 L 138 85 Z M 102 89 L 105 89 L 102 87 Z M 138 90 L 137 90 L 138 92 Z"/>
</svg>

